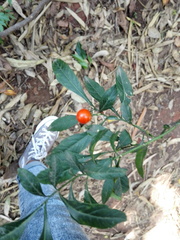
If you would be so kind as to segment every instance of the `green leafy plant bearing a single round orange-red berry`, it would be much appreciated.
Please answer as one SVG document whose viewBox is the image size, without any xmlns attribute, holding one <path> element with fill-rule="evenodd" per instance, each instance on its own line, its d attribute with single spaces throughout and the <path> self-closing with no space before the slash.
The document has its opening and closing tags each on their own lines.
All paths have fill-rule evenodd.
<svg viewBox="0 0 180 240">
<path fill-rule="evenodd" d="M 19 169 L 18 175 L 21 184 L 29 192 L 36 195 L 44 195 L 40 183 L 52 184 L 59 192 L 72 218 L 77 222 L 97 228 L 111 228 L 117 223 L 126 221 L 124 212 L 110 209 L 106 205 L 110 197 L 120 199 L 122 194 L 128 191 L 129 188 L 126 169 L 120 166 L 122 156 L 129 153 L 136 154 L 135 165 L 138 173 L 143 177 L 143 159 L 147 152 L 147 146 L 171 132 L 179 122 L 171 126 L 165 126 L 163 132 L 156 137 L 153 137 L 141 127 L 134 125 L 130 108 L 133 90 L 126 73 L 120 67 L 116 70 L 116 83 L 107 90 L 94 80 L 85 77 L 84 88 L 87 89 L 89 97 L 85 94 L 84 88 L 74 72 L 65 62 L 60 59 L 54 61 L 53 71 L 57 80 L 64 87 L 78 94 L 89 103 L 89 110 L 93 114 L 102 115 L 102 121 L 99 124 L 93 124 L 92 121 L 90 124 L 91 114 L 89 111 L 84 112 L 84 109 L 82 113 L 88 113 L 88 119 L 84 119 L 84 117 L 77 114 L 77 116 L 68 115 L 55 120 L 50 127 L 51 131 L 64 131 L 78 124 L 78 121 L 82 124 L 89 123 L 83 126 L 82 132 L 65 138 L 52 150 L 45 159 L 46 164 L 49 166 L 48 169 L 40 172 L 37 176 L 34 176 L 26 169 Z M 95 101 L 91 101 L 91 98 L 94 98 Z M 117 98 L 120 99 L 121 103 L 119 111 L 114 108 Z M 106 110 L 108 112 L 111 110 L 112 114 L 106 115 Z M 142 133 L 141 142 L 133 144 L 127 130 L 112 132 L 108 129 L 104 124 L 107 120 L 112 119 L 124 121 L 137 127 Z M 110 150 L 95 153 L 96 144 L 99 141 L 109 142 Z M 85 149 L 88 150 L 88 154 L 84 153 Z M 85 177 L 86 179 L 84 199 L 81 202 L 73 194 L 73 182 L 79 177 Z M 103 181 L 101 202 L 97 202 L 90 193 L 88 188 L 89 179 Z M 69 198 L 66 199 L 61 195 L 61 189 L 69 183 L 71 183 Z M 50 231 L 47 230 L 49 228 L 47 227 L 46 214 L 46 202 L 51 197 L 48 196 L 47 200 L 42 204 L 45 209 L 42 236 L 47 236 L 47 238 L 42 239 L 52 239 Z M 20 237 L 36 211 L 25 219 L 0 227 L 1 239 L 14 239 L 14 235 L 17 238 Z"/>
</svg>

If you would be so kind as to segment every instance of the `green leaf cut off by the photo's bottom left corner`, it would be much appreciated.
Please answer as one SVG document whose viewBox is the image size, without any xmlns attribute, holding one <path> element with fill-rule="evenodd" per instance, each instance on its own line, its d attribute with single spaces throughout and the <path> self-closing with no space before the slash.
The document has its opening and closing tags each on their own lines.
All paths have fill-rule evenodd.
<svg viewBox="0 0 180 240">
<path fill-rule="evenodd" d="M 32 219 L 36 212 L 37 210 L 23 219 L 19 219 L 15 222 L 11 222 L 8 224 L 4 224 L 3 226 L 0 226 L 0 239 L 1 240 L 20 239 L 27 224 L 29 223 L 29 221 Z"/>
</svg>

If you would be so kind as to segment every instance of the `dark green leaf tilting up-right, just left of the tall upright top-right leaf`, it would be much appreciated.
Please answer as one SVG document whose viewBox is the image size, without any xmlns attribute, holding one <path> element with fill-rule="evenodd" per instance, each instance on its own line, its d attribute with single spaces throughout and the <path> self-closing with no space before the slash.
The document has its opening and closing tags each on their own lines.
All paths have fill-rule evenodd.
<svg viewBox="0 0 180 240">
<path fill-rule="evenodd" d="M 100 101 L 99 111 L 102 112 L 107 109 L 111 109 L 117 98 L 116 85 L 109 88 L 102 96 Z"/>
</svg>

